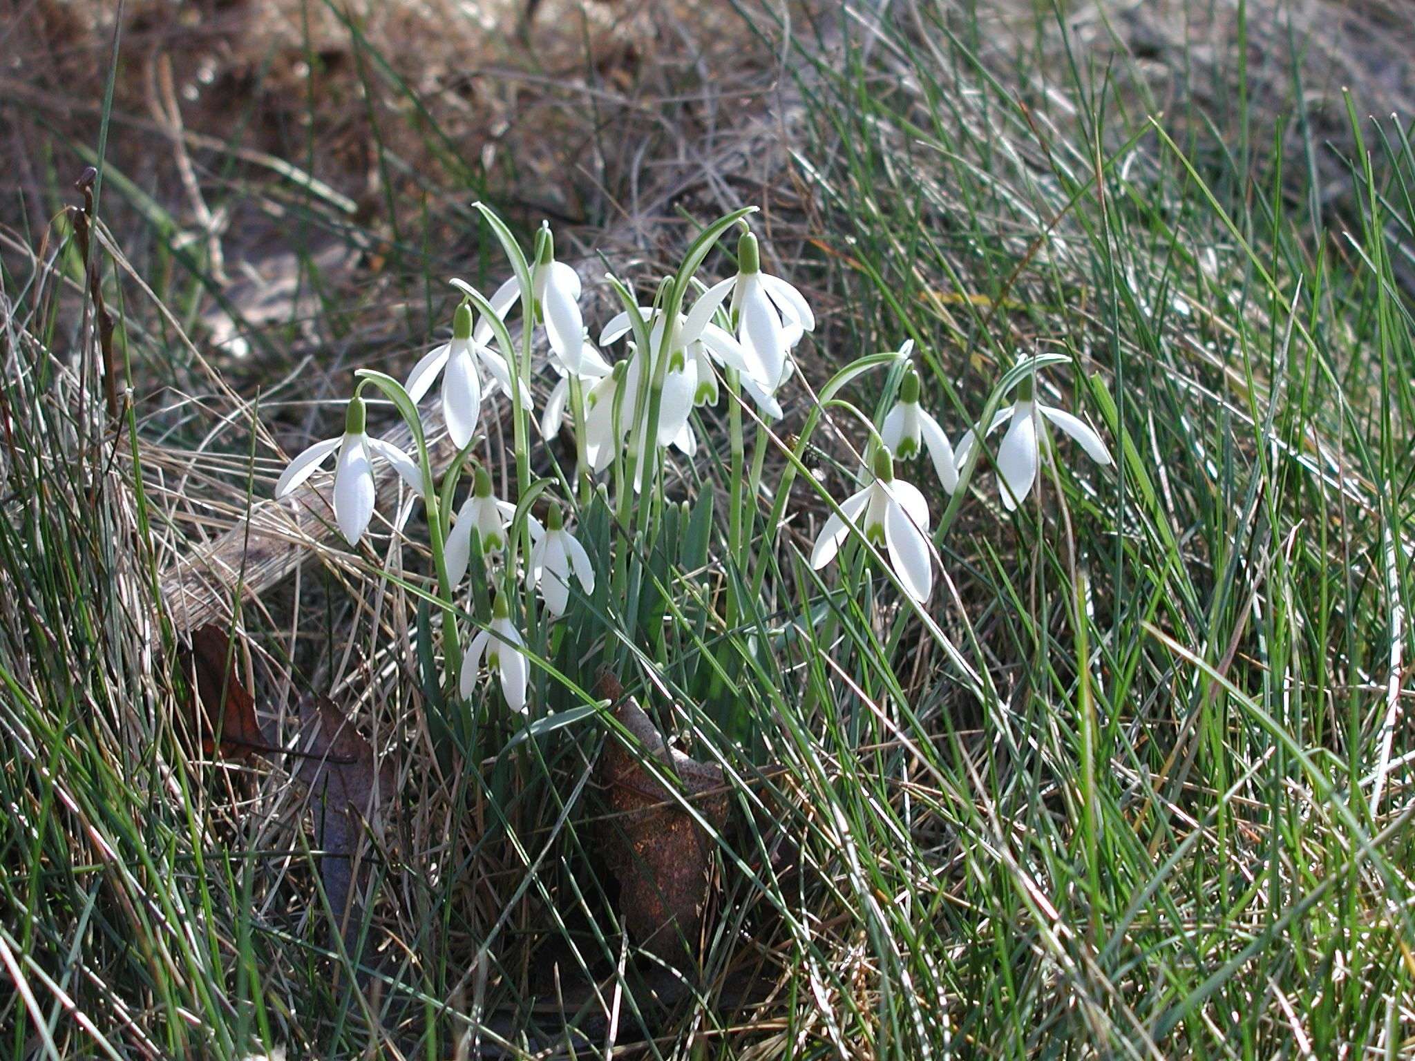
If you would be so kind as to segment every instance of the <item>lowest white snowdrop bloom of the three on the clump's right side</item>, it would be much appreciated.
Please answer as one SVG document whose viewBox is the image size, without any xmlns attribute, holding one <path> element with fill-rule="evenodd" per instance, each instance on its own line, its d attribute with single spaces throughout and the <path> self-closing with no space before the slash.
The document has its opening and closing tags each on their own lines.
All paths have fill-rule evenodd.
<svg viewBox="0 0 1415 1061">
<path fill-rule="evenodd" d="M 889 450 L 874 454 L 874 481 L 848 498 L 841 512 L 825 521 L 811 550 L 811 566 L 816 570 L 831 563 L 841 550 L 841 543 L 850 533 L 846 519 L 857 523 L 866 540 L 886 552 L 904 591 L 924 604 L 934 591 L 928 502 L 917 487 L 894 478 Z"/>
</svg>

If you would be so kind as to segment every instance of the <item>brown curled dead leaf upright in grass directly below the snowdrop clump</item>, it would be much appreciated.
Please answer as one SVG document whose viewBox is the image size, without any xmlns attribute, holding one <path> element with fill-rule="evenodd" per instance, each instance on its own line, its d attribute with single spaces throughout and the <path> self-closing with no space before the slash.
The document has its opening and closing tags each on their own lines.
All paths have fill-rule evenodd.
<svg viewBox="0 0 1415 1061">
<path fill-rule="evenodd" d="M 620 907 L 630 935 L 645 951 L 676 961 L 693 939 L 708 900 L 713 839 L 644 763 L 651 755 L 682 782 L 682 794 L 715 832 L 727 823 L 722 768 L 671 750 L 652 720 L 620 683 L 600 679 L 600 696 L 617 702 L 614 717 L 641 747 L 610 740 L 599 781 L 613 813 L 604 821 L 604 856 L 620 883 Z"/>
</svg>

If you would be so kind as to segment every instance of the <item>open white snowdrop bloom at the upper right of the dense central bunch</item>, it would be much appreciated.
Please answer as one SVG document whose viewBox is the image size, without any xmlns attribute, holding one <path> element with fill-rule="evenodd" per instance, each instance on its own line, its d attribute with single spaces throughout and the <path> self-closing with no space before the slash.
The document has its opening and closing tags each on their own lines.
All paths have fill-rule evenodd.
<svg viewBox="0 0 1415 1061">
<path fill-rule="evenodd" d="M 709 287 L 692 313 L 712 320 L 729 293 L 729 315 L 737 325 L 746 373 L 763 388 L 775 390 L 784 379 L 791 348 L 805 332 L 815 331 L 815 314 L 801 291 L 780 276 L 761 272 L 761 250 L 751 232 L 737 240 L 737 274 Z"/>
</svg>

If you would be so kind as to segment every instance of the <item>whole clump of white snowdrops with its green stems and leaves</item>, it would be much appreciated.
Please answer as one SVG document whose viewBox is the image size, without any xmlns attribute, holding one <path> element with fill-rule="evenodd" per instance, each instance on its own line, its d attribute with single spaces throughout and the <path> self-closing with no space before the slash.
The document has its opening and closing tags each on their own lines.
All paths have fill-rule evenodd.
<svg viewBox="0 0 1415 1061">
<path fill-rule="evenodd" d="M 724 395 L 730 461 L 726 546 L 740 573 L 726 593 L 729 627 L 741 618 L 741 594 L 761 589 L 767 564 L 760 555 L 750 555 L 753 542 L 758 550 L 785 547 L 777 530 L 788 515 L 792 482 L 804 470 L 805 446 L 828 412 L 857 422 L 863 457 L 859 482 L 841 501 L 809 480 L 831 511 L 809 564 L 824 569 L 842 546 L 857 542 L 867 563 L 889 576 L 901 600 L 938 637 L 927 605 L 938 563 L 934 535 L 947 528 L 934 528 L 938 505 L 930 504 L 930 495 L 940 499 L 934 482 L 917 485 L 928 478 L 930 468 L 937 487 L 954 494 L 974 471 L 981 437 L 1006 424 L 992 465 L 1000 501 L 1010 511 L 1033 489 L 1046 451 L 1047 423 L 1075 439 L 1098 464 L 1111 463 L 1090 426 L 1034 396 L 1037 369 L 1065 358 L 1019 362 L 989 402 L 996 412 L 988 414 L 986 430 L 968 427 L 955 447 L 923 406 L 911 364 L 913 344 L 906 342 L 899 351 L 862 356 L 836 372 L 815 393 L 780 480 L 763 482 L 766 448 L 781 444 L 768 424 L 782 416 L 778 393 L 792 379 L 794 351 L 814 331 L 815 317 L 791 283 L 763 272 L 757 238 L 747 224 L 753 208 L 708 226 L 688 248 L 678 272 L 664 277 L 647 303 L 627 283 L 607 276 L 623 311 L 600 328 L 594 341 L 580 311 L 580 277 L 556 260 L 549 226 L 536 233 L 526 257 L 495 212 L 484 204 L 477 208 L 501 242 L 511 276 L 491 297 L 453 280 L 464 298 L 453 317 L 451 340 L 423 356 L 406 383 L 371 369 L 358 371 L 344 433 L 300 453 L 276 484 L 276 497 L 284 497 L 337 454 L 334 518 L 351 545 L 358 545 L 374 515 L 374 460 L 388 461 L 422 498 L 433 577 L 417 593 L 429 605 L 424 617 L 433 608 L 441 614 L 444 668 L 433 690 L 440 702 L 466 705 L 478 680 L 494 676 L 505 703 L 528 712 L 536 703 L 536 688 L 545 689 L 539 672 L 576 689 L 590 703 L 574 675 L 555 672 L 549 663 L 556 639 L 577 620 L 607 615 L 618 618 L 620 639 L 633 645 L 640 600 L 666 589 L 652 584 L 655 570 L 648 552 L 665 525 L 682 532 L 695 519 L 669 498 L 672 454 L 695 456 L 699 437 L 693 413 Z M 739 226 L 737 272 L 709 284 L 699 276 L 705 260 Z M 507 327 L 512 310 L 521 317 L 518 338 Z M 536 416 L 531 362 L 539 328 L 545 330 L 556 382 Z M 608 349 L 623 356 L 611 359 L 604 352 Z M 872 369 L 887 371 L 899 396 L 879 426 L 838 398 L 846 383 Z M 458 447 L 440 481 L 417 414 L 419 400 L 439 383 L 443 422 Z M 495 392 L 504 392 L 512 407 L 514 481 L 502 482 L 499 495 L 491 465 L 478 465 L 473 458 L 481 440 L 483 406 Z M 1009 393 L 1016 400 L 999 407 Z M 412 453 L 368 434 L 368 395 L 381 395 L 408 423 Z M 744 437 L 749 420 L 754 422 L 756 436 L 750 465 Z M 574 439 L 569 470 L 560 467 L 549 446 L 565 426 Z M 924 454 L 927 464 L 916 460 Z M 535 474 L 535 468 L 545 467 L 550 474 Z M 464 480 L 470 480 L 470 489 L 456 505 Z M 770 516 L 760 539 L 754 539 L 750 525 L 763 498 L 771 499 Z M 546 512 L 545 522 L 532 514 L 538 502 Z M 614 532 L 596 533 L 591 552 L 579 528 L 596 511 Z M 468 581 L 470 594 L 464 589 Z M 674 607 L 666 603 L 666 608 Z"/>
</svg>

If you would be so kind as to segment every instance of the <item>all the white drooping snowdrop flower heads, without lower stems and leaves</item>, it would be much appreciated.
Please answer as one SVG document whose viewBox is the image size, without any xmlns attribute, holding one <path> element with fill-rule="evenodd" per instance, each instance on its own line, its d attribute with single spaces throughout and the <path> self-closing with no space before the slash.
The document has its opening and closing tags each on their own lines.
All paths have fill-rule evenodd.
<svg viewBox="0 0 1415 1061">
<path fill-rule="evenodd" d="M 630 484 L 638 492 L 654 482 L 664 450 L 672 447 L 691 457 L 698 448 L 692 413 L 717 403 L 720 378 L 729 382 L 734 395 L 749 396 L 764 419 L 781 417 L 777 393 L 794 371 L 792 351 L 815 328 L 815 315 L 807 300 L 781 277 L 761 270 L 757 238 L 750 231 L 737 243 L 736 274 L 712 286 L 705 286 L 695 276 L 708 250 L 727 228 L 746 224 L 741 221 L 746 212 L 719 221 L 699 238 L 689 249 L 683 269 L 664 280 L 651 304 L 637 304 L 630 291 L 610 277 L 624 310 L 600 330 L 594 344 L 580 308 L 580 277 L 555 259 L 549 228 L 542 226 L 528 262 L 499 219 L 483 208 L 511 257 L 512 276 L 490 298 L 461 282 L 453 282 L 467 298 L 456 310 L 451 340 L 424 355 L 402 386 L 381 373 L 359 372 L 344 434 L 308 447 L 280 475 L 275 491 L 277 498 L 308 480 L 330 454 L 338 451 L 334 516 L 344 538 L 357 545 L 375 506 L 371 460 L 379 457 L 389 461 L 427 505 L 432 552 L 447 620 L 453 618 L 454 594 L 471 566 L 473 546 L 483 557 L 501 557 L 507 579 L 492 598 L 491 618 L 478 625 L 461 656 L 457 690 L 463 697 L 471 695 L 478 673 L 485 669 L 498 676 L 509 707 L 526 707 L 529 661 L 508 603 L 522 570 L 516 553 L 522 528 L 529 542 L 524 584 L 528 591 L 539 593 L 552 617 L 558 618 L 569 608 L 572 586 L 577 586 L 577 593 L 586 597 L 594 593 L 596 572 L 584 546 L 565 528 L 559 504 L 549 505 L 546 523 L 542 525 L 529 511 L 519 512 L 515 504 L 497 498 L 491 477 L 483 467 L 474 468 L 471 491 L 456 518 L 446 519 L 439 502 L 447 505 L 457 484 L 456 480 L 444 482 L 439 491 L 416 403 L 440 376 L 441 419 L 451 441 L 466 457 L 477 439 L 483 399 L 497 390 L 508 395 L 516 416 L 515 456 L 522 498 L 533 494 L 528 478 L 531 443 L 521 427 L 533 416 L 528 362 L 531 335 L 541 327 L 556 382 L 536 423 L 541 434 L 552 439 L 569 420 L 580 465 L 574 482 L 587 484 L 593 475 L 618 463 L 618 468 L 627 465 L 633 472 Z M 693 291 L 692 306 L 685 306 Z M 519 355 L 504 324 L 518 303 L 522 313 Z M 623 359 L 608 361 L 601 349 L 621 341 L 625 349 Z M 908 359 L 911 351 L 911 344 L 906 344 L 897 356 Z M 365 386 L 375 386 L 392 398 L 409 423 L 416 453 L 408 454 L 386 440 L 366 434 L 366 407 L 361 396 Z M 1108 464 L 1111 460 L 1101 439 L 1085 423 L 1034 400 L 1030 376 L 1023 379 L 1019 392 L 1022 396 L 1012 409 L 999 413 L 986 431 L 1010 424 L 995 460 L 1007 509 L 1027 497 L 1036 478 L 1043 437 L 1037 433 L 1039 416 L 1077 439 L 1098 463 Z M 816 569 L 828 564 L 855 532 L 882 550 L 910 597 L 920 604 L 928 601 L 934 556 L 928 502 L 917 487 L 894 474 L 894 460 L 910 460 L 927 451 L 940 484 L 954 492 L 978 437 L 976 430 L 968 430 L 955 451 L 938 420 L 921 407 L 918 375 L 908 366 L 899 402 L 877 433 L 870 429 L 866 467 L 862 470 L 866 482 L 835 506 L 811 552 L 811 564 Z M 522 506 L 528 509 L 529 504 L 524 501 Z M 450 638 L 456 645 L 454 622 Z"/>
</svg>

